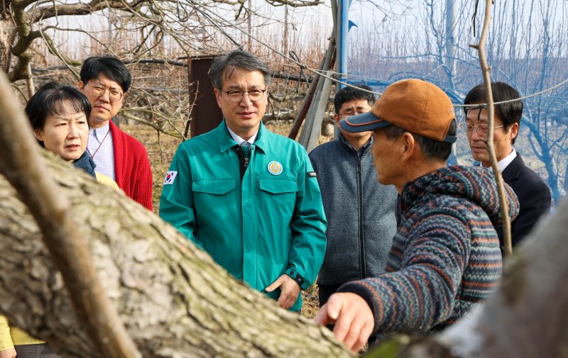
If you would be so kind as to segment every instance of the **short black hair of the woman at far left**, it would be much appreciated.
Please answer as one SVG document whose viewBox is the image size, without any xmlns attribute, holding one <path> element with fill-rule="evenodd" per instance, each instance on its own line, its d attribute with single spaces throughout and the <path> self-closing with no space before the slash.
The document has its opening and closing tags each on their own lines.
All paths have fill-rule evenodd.
<svg viewBox="0 0 568 358">
<path fill-rule="evenodd" d="M 83 112 L 89 123 L 91 102 L 75 86 L 66 83 L 49 82 L 35 92 L 26 104 L 26 115 L 34 130 L 43 129 L 48 116 L 65 112 L 65 104 L 70 104 L 76 113 Z M 40 142 L 43 145 L 43 142 Z"/>
</svg>

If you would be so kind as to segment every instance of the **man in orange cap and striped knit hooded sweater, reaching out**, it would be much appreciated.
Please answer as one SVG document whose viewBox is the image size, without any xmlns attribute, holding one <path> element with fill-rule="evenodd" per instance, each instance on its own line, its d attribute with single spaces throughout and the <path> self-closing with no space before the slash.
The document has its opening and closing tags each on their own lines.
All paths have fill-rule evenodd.
<svg viewBox="0 0 568 358">
<path fill-rule="evenodd" d="M 454 107 L 429 82 L 395 82 L 371 112 L 340 125 L 373 131 L 377 178 L 398 190 L 401 218 L 387 273 L 344 284 L 315 319 L 334 323 L 335 337 L 355 352 L 371 333 L 442 330 L 486 298 L 501 276 L 494 177 L 480 167 L 447 167 Z M 514 218 L 518 201 L 508 186 L 506 194 Z"/>
</svg>

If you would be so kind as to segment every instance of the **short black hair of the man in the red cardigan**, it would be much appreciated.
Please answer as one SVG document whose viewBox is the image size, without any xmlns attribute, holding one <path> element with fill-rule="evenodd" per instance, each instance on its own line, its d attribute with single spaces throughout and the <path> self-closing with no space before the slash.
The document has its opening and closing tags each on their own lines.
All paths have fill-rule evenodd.
<svg viewBox="0 0 568 358">
<path fill-rule="evenodd" d="M 132 84 L 132 76 L 124 63 L 116 57 L 97 56 L 84 60 L 81 67 L 81 81 L 86 84 L 92 79 L 97 79 L 101 74 L 109 77 L 122 87 L 126 93 Z"/>
</svg>

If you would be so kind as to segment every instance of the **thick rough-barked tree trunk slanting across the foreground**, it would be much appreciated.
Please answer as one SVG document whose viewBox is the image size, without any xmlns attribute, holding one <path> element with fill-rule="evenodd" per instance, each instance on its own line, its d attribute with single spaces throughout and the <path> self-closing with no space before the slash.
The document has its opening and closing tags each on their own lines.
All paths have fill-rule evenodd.
<svg viewBox="0 0 568 358">
<path fill-rule="evenodd" d="M 326 328 L 236 281 L 153 213 L 44 155 L 143 357 L 349 357 Z M 99 357 L 4 177 L 0 197 L 0 311 L 66 357 Z"/>
</svg>

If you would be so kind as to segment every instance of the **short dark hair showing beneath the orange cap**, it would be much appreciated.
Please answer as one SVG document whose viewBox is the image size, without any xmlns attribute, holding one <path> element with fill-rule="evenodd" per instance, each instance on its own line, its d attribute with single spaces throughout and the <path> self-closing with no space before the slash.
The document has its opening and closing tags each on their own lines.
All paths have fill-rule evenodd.
<svg viewBox="0 0 568 358">
<path fill-rule="evenodd" d="M 386 127 L 379 128 L 376 130 L 384 130 L 386 138 L 396 139 L 402 136 L 404 133 L 408 132 L 413 135 L 414 140 L 420 145 L 420 149 L 424 156 L 429 160 L 437 160 L 445 162 L 448 160 L 449 155 L 452 154 L 452 143 L 440 142 L 439 140 L 434 140 L 431 138 L 426 138 L 422 135 L 417 135 L 415 133 L 409 132 L 404 128 L 400 128 L 398 125 L 387 125 Z M 452 120 L 449 125 L 448 135 L 456 135 L 457 123 L 456 120 Z"/>
</svg>

